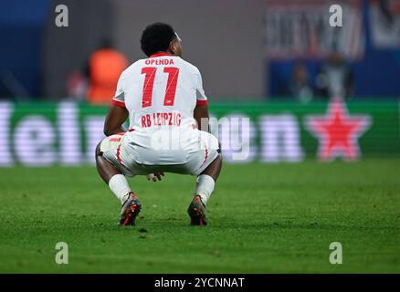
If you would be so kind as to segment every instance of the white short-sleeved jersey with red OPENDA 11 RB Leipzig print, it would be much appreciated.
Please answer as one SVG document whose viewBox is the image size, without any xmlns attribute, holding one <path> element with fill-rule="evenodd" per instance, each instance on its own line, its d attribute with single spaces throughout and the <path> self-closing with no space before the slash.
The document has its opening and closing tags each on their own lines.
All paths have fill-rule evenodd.
<svg viewBox="0 0 400 292">
<path fill-rule="evenodd" d="M 195 66 L 159 53 L 121 73 L 112 103 L 129 111 L 132 135 L 152 135 L 160 127 L 195 128 L 195 106 L 207 104 L 202 83 Z"/>
</svg>

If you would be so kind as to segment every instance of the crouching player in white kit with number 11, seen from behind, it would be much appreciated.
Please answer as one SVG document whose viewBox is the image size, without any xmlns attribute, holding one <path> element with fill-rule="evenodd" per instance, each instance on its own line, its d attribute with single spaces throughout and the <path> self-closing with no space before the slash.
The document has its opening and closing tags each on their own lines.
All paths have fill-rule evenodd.
<svg viewBox="0 0 400 292">
<path fill-rule="evenodd" d="M 164 172 L 197 176 L 187 210 L 191 224 L 207 224 L 205 206 L 222 158 L 208 132 L 207 98 L 200 72 L 182 59 L 182 40 L 166 24 L 147 26 L 141 47 L 148 58 L 121 73 L 96 148 L 100 177 L 121 202 L 119 224 L 134 225 L 141 203 L 126 176 L 161 181 Z M 123 123 L 129 117 L 129 129 Z"/>
</svg>

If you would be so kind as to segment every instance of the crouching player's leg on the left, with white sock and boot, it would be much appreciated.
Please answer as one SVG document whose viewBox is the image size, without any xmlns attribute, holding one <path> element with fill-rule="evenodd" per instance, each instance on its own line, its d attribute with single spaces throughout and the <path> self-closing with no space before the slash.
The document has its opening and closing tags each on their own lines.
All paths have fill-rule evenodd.
<svg viewBox="0 0 400 292">
<path fill-rule="evenodd" d="M 119 224 L 123 226 L 132 225 L 135 224 L 136 217 L 138 216 L 142 205 L 136 195 L 132 193 L 121 170 L 104 158 L 105 154 L 111 161 L 113 161 L 113 152 L 117 150 L 118 146 L 112 143 L 112 139 L 113 138 L 107 137 L 96 147 L 96 166 L 100 177 L 109 185 L 111 192 L 114 193 L 121 202 Z"/>
</svg>

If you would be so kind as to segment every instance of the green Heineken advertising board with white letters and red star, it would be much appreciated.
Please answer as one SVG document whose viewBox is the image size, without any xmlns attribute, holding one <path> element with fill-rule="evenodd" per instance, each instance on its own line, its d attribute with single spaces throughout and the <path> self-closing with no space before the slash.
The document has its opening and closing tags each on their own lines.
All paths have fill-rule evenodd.
<svg viewBox="0 0 400 292">
<path fill-rule="evenodd" d="M 94 162 L 106 107 L 0 102 L 0 167 Z M 400 154 L 396 102 L 212 104 L 225 162 L 354 161 Z"/>
</svg>

